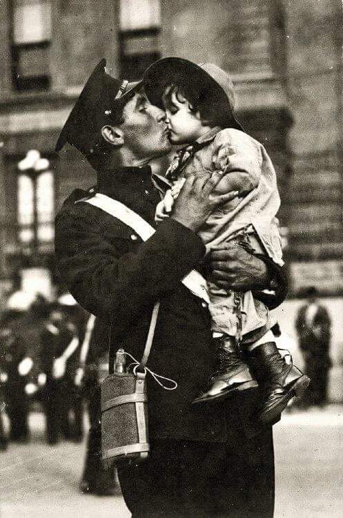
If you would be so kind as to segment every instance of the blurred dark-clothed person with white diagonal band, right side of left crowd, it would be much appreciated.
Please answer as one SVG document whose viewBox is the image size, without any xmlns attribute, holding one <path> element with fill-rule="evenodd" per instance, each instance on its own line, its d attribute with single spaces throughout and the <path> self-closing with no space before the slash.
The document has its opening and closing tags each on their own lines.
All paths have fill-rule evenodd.
<svg viewBox="0 0 343 518">
<path fill-rule="evenodd" d="M 60 436 L 72 437 L 69 420 L 67 363 L 79 345 L 75 331 L 65 323 L 58 304 L 50 305 L 48 317 L 41 328 L 41 373 L 43 407 L 46 413 L 46 435 L 49 444 L 57 444 Z"/>
</svg>

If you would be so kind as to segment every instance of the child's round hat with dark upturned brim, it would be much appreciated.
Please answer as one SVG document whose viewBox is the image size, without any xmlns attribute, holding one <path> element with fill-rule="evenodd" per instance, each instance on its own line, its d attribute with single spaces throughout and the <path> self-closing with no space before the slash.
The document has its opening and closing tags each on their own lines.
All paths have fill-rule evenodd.
<svg viewBox="0 0 343 518">
<path fill-rule="evenodd" d="M 235 93 L 228 74 L 213 63 L 195 64 L 181 57 L 164 57 L 150 65 L 143 76 L 144 90 L 152 104 L 163 109 L 162 97 L 168 84 L 195 85 L 197 90 L 206 90 L 208 99 L 227 111 L 230 127 L 244 131 L 235 117 Z"/>
</svg>

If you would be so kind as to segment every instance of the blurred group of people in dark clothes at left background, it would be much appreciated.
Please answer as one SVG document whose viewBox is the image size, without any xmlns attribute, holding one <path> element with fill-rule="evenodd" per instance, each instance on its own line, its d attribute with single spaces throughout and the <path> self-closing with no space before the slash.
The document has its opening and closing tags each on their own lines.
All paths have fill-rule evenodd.
<svg viewBox="0 0 343 518">
<path fill-rule="evenodd" d="M 37 405 L 50 445 L 83 439 L 84 400 L 99 382 L 99 358 L 92 366 L 90 354 L 93 324 L 70 294 L 53 302 L 37 295 L 30 305 L 24 292 L 10 296 L 0 316 L 1 449 L 29 441 L 28 413 Z"/>
</svg>

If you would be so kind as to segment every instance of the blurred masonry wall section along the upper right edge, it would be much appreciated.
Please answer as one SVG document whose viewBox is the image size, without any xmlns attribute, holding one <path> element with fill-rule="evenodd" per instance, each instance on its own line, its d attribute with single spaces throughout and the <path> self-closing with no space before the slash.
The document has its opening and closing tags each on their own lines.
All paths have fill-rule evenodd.
<svg viewBox="0 0 343 518">
<path fill-rule="evenodd" d="M 342 4 L 284 1 L 293 116 L 286 204 L 291 257 L 340 258 L 342 236 Z"/>
</svg>

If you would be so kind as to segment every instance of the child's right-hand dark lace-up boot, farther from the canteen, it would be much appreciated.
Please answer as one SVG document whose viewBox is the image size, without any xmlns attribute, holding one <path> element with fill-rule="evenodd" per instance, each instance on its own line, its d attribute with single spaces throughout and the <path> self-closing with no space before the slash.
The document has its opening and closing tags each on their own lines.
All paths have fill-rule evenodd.
<svg viewBox="0 0 343 518">
<path fill-rule="evenodd" d="M 258 345 L 248 352 L 248 358 L 259 383 L 264 383 L 259 420 L 271 423 L 280 416 L 288 401 L 304 393 L 310 378 L 295 365 L 288 365 L 274 342 Z"/>
</svg>

